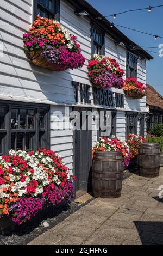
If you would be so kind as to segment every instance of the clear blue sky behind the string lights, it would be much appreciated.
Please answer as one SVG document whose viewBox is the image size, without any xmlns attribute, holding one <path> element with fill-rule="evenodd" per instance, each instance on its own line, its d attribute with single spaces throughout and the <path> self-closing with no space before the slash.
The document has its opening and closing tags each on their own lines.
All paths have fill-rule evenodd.
<svg viewBox="0 0 163 256">
<path fill-rule="evenodd" d="M 149 5 L 154 6 L 163 4 L 163 0 L 87 0 L 87 2 L 104 16 L 130 9 L 145 8 Z M 154 8 L 151 13 L 148 13 L 147 10 L 141 10 L 118 15 L 116 19 L 113 19 L 112 17 L 109 17 L 108 19 L 121 26 L 163 36 L 163 7 Z M 158 38 L 155 41 L 153 36 L 137 33 L 125 28 L 117 28 L 139 46 L 158 47 L 159 44 L 163 44 L 163 38 Z M 145 49 L 154 52 L 159 51 L 159 49 L 156 48 Z M 158 54 L 152 52 L 149 52 L 149 54 L 151 54 L 154 59 L 147 62 L 147 83 L 151 84 L 163 96 L 163 57 L 159 57 Z"/>
</svg>

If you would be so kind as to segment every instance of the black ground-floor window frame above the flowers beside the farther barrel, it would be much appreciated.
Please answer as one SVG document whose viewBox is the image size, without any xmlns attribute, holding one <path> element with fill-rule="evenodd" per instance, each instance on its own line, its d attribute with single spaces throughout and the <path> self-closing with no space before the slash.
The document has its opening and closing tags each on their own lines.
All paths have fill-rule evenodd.
<svg viewBox="0 0 163 256">
<path fill-rule="evenodd" d="M 137 112 L 126 112 L 126 137 L 129 133 L 134 133 L 137 135 L 137 124 L 138 124 L 138 114 Z M 131 125 L 130 118 L 134 118 L 133 125 Z"/>
</svg>

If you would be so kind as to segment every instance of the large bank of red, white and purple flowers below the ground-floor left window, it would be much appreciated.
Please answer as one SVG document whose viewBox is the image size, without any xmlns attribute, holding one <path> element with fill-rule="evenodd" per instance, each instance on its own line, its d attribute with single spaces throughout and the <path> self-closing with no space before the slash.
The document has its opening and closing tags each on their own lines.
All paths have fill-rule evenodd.
<svg viewBox="0 0 163 256">
<path fill-rule="evenodd" d="M 10 150 L 0 157 L 0 217 L 22 224 L 46 203 L 57 205 L 73 197 L 74 176 L 54 151 Z"/>
</svg>

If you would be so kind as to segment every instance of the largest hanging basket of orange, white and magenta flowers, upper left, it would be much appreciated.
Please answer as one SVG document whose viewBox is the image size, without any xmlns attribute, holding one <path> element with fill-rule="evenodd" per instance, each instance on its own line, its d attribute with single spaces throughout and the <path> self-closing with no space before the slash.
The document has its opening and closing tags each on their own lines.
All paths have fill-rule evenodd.
<svg viewBox="0 0 163 256">
<path fill-rule="evenodd" d="M 58 21 L 37 16 L 29 32 L 23 34 L 24 51 L 42 68 L 55 71 L 82 68 L 85 58 L 76 39 Z"/>
</svg>

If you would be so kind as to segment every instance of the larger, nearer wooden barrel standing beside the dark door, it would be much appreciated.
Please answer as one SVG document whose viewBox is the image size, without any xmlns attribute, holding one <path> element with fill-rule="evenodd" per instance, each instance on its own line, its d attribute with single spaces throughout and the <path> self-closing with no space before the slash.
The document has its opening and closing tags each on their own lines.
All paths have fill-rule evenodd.
<svg viewBox="0 0 163 256">
<path fill-rule="evenodd" d="M 97 151 L 92 165 L 92 190 L 95 197 L 117 198 L 122 190 L 122 154 Z"/>
</svg>

